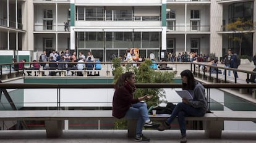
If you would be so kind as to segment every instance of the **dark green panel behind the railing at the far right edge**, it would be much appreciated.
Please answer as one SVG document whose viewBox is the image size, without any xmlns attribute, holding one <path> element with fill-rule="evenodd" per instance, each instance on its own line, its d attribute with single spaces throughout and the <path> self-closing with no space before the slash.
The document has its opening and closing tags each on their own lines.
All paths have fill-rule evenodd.
<svg viewBox="0 0 256 143">
<path fill-rule="evenodd" d="M 234 111 L 256 111 L 256 105 L 224 92 L 224 106 Z"/>
</svg>

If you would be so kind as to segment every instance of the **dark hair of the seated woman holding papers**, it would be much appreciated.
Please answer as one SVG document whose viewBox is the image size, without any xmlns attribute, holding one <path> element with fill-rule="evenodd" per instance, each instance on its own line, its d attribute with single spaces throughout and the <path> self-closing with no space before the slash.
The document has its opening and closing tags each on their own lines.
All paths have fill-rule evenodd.
<svg viewBox="0 0 256 143">
<path fill-rule="evenodd" d="M 184 70 L 181 72 L 181 77 L 182 76 L 187 77 L 187 83 L 182 83 L 182 89 L 194 90 L 195 84 L 197 84 L 197 81 L 195 81 L 195 78 L 192 72 L 190 70 Z"/>
</svg>

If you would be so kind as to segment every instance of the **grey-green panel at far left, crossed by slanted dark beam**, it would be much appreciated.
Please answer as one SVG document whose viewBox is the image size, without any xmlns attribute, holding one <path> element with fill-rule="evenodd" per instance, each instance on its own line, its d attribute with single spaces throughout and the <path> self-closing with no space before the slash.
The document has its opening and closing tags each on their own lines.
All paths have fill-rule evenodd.
<svg viewBox="0 0 256 143">
<path fill-rule="evenodd" d="M 15 89 L 14 91 L 9 91 L 9 95 L 11 96 L 11 99 L 13 100 L 15 106 L 18 109 L 24 106 L 23 89 Z M 4 94 L 2 94 L 1 96 L 0 110 L 12 110 L 11 105 L 7 101 L 6 96 Z"/>
</svg>

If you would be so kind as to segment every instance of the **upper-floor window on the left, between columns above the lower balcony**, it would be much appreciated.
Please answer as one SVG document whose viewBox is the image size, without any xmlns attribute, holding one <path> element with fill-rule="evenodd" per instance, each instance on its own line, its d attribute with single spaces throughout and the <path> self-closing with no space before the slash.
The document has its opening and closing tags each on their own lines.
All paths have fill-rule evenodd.
<svg viewBox="0 0 256 143">
<path fill-rule="evenodd" d="M 53 10 L 43 10 L 43 30 L 53 30 Z"/>
</svg>

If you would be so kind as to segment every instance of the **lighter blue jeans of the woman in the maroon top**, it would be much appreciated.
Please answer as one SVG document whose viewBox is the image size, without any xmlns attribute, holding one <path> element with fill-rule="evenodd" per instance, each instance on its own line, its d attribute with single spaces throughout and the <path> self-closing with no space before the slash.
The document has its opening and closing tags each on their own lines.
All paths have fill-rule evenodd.
<svg viewBox="0 0 256 143">
<path fill-rule="evenodd" d="M 129 110 L 124 116 L 126 119 L 137 119 L 136 135 L 140 136 L 142 134 L 142 128 L 145 121 L 149 120 L 148 108 L 145 102 L 138 102 L 137 104 L 132 104 Z"/>
</svg>

